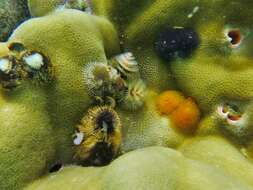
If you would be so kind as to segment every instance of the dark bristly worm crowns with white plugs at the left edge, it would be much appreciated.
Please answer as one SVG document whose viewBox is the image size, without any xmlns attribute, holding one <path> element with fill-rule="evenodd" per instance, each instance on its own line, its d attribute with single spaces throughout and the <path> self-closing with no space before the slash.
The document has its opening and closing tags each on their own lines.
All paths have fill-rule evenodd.
<svg viewBox="0 0 253 190">
<path fill-rule="evenodd" d="M 42 53 L 28 51 L 20 44 L 9 47 L 9 55 L 0 58 L 0 83 L 12 89 L 23 80 L 48 82 L 52 76 L 49 59 Z"/>
</svg>

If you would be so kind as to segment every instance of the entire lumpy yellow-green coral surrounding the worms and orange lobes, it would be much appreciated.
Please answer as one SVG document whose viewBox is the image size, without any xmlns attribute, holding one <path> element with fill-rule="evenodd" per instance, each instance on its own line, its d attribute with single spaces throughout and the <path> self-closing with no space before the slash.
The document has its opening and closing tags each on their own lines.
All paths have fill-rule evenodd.
<svg viewBox="0 0 253 190">
<path fill-rule="evenodd" d="M 139 63 L 147 95 L 135 112 L 116 102 L 123 124 L 121 152 L 154 145 L 178 150 L 146 148 L 124 154 L 104 168 L 66 167 L 28 189 L 64 185 L 124 190 L 129 184 L 133 189 L 253 188 L 252 142 L 239 141 L 237 134 L 230 137 L 223 124 L 236 125 L 227 125 L 217 114 L 219 106 L 232 103 L 248 116 L 247 122 L 252 121 L 251 1 L 93 0 L 98 16 L 55 11 L 63 2 L 48 2 L 30 0 L 31 14 L 38 18 L 20 25 L 0 45 L 1 57 L 12 52 L 13 43 L 43 53 L 54 78 L 39 85 L 24 80 L 16 89 L 2 90 L 1 189 L 20 189 L 55 163 L 72 163 L 74 127 L 94 104 L 84 81 L 85 65 L 107 64 L 129 51 Z M 193 27 L 200 35 L 191 57 L 166 62 L 156 54 L 154 42 L 168 27 Z M 243 36 L 238 47 L 229 39 L 228 31 L 235 29 Z M 158 114 L 155 99 L 168 89 L 194 98 L 203 111 L 195 136 L 181 134 L 168 117 Z M 29 172 L 24 172 L 28 163 Z"/>
</svg>

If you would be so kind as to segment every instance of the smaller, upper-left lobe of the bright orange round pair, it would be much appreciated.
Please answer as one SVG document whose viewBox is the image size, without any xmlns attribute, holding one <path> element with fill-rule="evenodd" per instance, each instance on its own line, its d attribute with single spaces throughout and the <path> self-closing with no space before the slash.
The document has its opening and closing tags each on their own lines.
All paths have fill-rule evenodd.
<svg viewBox="0 0 253 190">
<path fill-rule="evenodd" d="M 177 91 L 168 90 L 161 93 L 156 100 L 157 110 L 164 115 L 172 113 L 183 101 L 184 96 Z"/>
</svg>

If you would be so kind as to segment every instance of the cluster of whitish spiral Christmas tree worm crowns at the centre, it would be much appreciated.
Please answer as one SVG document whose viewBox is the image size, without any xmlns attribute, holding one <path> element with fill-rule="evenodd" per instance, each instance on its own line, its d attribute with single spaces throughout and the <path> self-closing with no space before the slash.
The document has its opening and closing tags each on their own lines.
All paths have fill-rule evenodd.
<svg viewBox="0 0 253 190">
<path fill-rule="evenodd" d="M 146 85 L 130 52 L 116 55 L 107 63 L 88 63 L 83 75 L 88 92 L 98 105 L 120 104 L 133 111 L 144 104 Z"/>
</svg>

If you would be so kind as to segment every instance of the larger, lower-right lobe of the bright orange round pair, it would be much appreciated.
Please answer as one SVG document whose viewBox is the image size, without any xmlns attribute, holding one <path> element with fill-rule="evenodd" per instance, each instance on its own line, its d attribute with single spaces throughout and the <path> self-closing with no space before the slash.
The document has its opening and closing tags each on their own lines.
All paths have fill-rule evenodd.
<svg viewBox="0 0 253 190">
<path fill-rule="evenodd" d="M 170 115 L 175 127 L 184 131 L 192 131 L 197 127 L 200 110 L 192 98 L 187 98 Z"/>
</svg>

